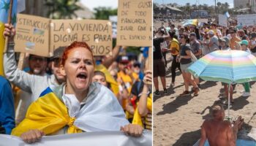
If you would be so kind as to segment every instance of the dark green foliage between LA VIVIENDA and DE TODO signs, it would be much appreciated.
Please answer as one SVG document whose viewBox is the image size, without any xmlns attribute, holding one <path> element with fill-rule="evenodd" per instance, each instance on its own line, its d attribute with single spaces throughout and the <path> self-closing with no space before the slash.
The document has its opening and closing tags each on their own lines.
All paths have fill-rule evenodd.
<svg viewBox="0 0 256 146">
<path fill-rule="evenodd" d="M 117 15 L 117 9 L 111 9 L 110 7 L 97 7 L 94 8 L 95 19 L 108 20 L 110 15 Z"/>
</svg>

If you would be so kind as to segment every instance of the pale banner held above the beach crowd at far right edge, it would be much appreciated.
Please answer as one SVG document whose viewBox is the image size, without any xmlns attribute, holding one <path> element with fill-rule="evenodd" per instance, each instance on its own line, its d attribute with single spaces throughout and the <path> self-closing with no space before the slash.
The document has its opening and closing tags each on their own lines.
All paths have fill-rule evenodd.
<svg viewBox="0 0 256 146">
<path fill-rule="evenodd" d="M 256 14 L 238 15 L 238 26 L 256 26 Z"/>
</svg>

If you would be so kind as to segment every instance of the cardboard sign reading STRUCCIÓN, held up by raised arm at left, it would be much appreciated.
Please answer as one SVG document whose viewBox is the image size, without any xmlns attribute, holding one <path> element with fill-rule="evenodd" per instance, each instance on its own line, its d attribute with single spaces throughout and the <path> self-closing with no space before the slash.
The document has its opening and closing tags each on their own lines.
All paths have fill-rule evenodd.
<svg viewBox="0 0 256 146">
<path fill-rule="evenodd" d="M 15 52 L 49 55 L 50 19 L 32 15 L 17 15 Z"/>
</svg>

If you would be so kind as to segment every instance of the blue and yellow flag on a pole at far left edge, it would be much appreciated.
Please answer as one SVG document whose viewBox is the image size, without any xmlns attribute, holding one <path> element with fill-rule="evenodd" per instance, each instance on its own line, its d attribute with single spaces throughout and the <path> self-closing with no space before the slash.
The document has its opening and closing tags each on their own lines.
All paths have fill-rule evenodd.
<svg viewBox="0 0 256 146">
<path fill-rule="evenodd" d="M 19 6 L 19 7 L 17 7 Z M 4 75 L 3 53 L 4 53 L 4 23 L 7 23 L 8 13 L 10 9 L 10 0 L 0 1 L 0 75 Z M 13 0 L 12 3 L 12 25 L 16 23 L 17 12 L 25 9 L 25 0 Z"/>
</svg>

